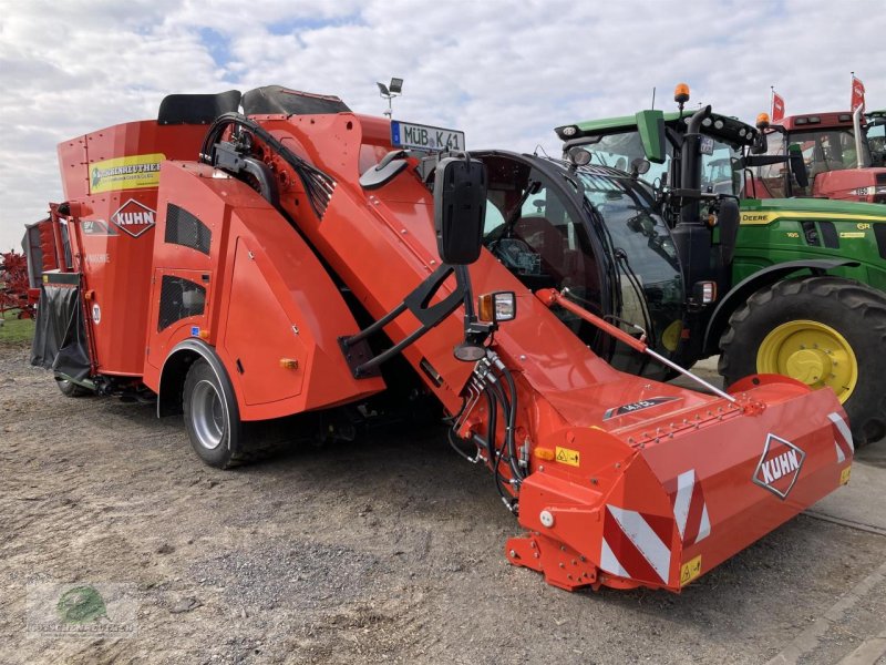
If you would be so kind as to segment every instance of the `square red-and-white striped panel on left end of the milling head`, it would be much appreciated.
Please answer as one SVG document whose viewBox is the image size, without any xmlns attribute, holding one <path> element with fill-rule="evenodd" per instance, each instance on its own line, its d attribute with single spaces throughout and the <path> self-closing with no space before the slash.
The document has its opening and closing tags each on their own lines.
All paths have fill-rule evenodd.
<svg viewBox="0 0 886 665">
<path fill-rule="evenodd" d="M 600 569 L 620 577 L 667 584 L 673 521 L 606 504 Z"/>
</svg>

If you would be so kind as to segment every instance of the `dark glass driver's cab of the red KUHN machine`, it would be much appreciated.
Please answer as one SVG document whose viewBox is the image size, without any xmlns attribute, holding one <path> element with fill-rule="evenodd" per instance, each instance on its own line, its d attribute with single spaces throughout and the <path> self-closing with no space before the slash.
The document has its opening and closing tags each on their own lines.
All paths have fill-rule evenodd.
<svg viewBox="0 0 886 665">
<path fill-rule="evenodd" d="M 671 231 L 643 181 L 604 164 L 504 151 L 474 152 L 488 172 L 485 247 L 533 291 L 567 289 L 581 307 L 659 354 L 684 359 L 687 288 Z M 619 369 L 663 375 L 658 364 L 570 314 L 555 313 Z"/>
</svg>

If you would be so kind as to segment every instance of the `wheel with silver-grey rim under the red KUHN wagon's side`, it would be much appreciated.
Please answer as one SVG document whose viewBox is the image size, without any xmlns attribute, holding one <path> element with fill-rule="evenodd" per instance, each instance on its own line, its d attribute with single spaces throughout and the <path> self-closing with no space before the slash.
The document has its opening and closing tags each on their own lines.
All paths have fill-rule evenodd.
<svg viewBox="0 0 886 665">
<path fill-rule="evenodd" d="M 237 466 L 241 423 L 233 391 L 204 359 L 195 360 L 185 377 L 182 407 L 190 446 L 205 463 L 218 469 Z"/>
</svg>

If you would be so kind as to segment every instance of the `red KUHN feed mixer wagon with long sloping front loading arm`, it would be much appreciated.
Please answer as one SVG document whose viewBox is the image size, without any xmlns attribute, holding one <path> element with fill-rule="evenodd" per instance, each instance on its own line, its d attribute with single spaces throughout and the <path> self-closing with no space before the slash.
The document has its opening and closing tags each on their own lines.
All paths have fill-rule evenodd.
<svg viewBox="0 0 886 665">
<path fill-rule="evenodd" d="M 66 238 L 70 263 L 42 274 L 33 362 L 69 395 L 184 413 L 216 467 L 259 422 L 295 417 L 297 437 L 295 415 L 433 398 L 525 530 L 508 560 L 567 590 L 679 591 L 848 480 L 830 391 L 755 376 L 702 393 L 595 354 L 565 317 L 668 362 L 482 245 L 523 172 L 463 141 L 268 86 L 62 143 L 42 252 Z"/>
</svg>

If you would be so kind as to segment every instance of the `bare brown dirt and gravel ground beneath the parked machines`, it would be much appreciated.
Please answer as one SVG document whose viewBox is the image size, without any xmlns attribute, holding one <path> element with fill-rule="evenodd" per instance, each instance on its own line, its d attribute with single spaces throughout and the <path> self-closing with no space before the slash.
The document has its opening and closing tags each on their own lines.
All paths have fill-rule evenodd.
<svg viewBox="0 0 886 665">
<path fill-rule="evenodd" d="M 569 594 L 508 565 L 516 522 L 436 429 L 216 471 L 181 419 L 7 346 L 0 483 L 3 664 L 886 662 L 875 528 L 802 515 L 681 595 Z M 49 632 L 53 584 L 125 596 L 125 634 Z"/>
</svg>

